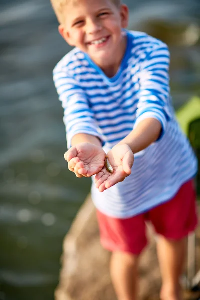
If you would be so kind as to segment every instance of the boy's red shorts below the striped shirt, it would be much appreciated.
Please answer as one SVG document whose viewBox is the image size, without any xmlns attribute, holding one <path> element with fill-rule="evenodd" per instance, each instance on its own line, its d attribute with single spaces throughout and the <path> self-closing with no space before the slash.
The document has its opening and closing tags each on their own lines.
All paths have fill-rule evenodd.
<svg viewBox="0 0 200 300">
<path fill-rule="evenodd" d="M 109 251 L 140 254 L 147 244 L 146 221 L 158 234 L 178 240 L 197 226 L 196 211 L 193 180 L 183 184 L 171 200 L 127 219 L 109 217 L 97 210 L 101 244 Z"/>
</svg>

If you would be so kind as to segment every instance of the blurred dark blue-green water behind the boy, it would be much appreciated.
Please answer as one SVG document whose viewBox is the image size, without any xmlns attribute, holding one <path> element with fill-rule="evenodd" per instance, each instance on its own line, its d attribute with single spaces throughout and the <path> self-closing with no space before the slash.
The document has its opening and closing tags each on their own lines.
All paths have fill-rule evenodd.
<svg viewBox="0 0 200 300">
<path fill-rule="evenodd" d="M 175 109 L 200 82 L 199 0 L 126 0 L 129 28 L 171 51 Z M 0 300 L 52 300 L 90 180 L 69 173 L 52 69 L 70 50 L 48 0 L 0 1 Z"/>
</svg>

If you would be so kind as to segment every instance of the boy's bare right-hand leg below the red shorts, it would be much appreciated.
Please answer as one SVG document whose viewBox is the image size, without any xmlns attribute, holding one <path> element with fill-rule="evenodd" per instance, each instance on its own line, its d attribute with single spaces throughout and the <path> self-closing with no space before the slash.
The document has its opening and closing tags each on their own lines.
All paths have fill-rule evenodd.
<svg viewBox="0 0 200 300">
<path fill-rule="evenodd" d="M 162 300 L 182 300 L 180 276 L 186 253 L 186 239 L 170 240 L 159 236 L 157 254 L 162 276 L 160 298 Z"/>
</svg>

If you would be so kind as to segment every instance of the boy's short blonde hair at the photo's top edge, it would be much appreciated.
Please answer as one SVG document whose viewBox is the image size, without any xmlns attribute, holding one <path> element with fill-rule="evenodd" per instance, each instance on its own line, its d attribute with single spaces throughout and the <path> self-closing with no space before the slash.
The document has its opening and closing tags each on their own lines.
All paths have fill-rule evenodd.
<svg viewBox="0 0 200 300">
<path fill-rule="evenodd" d="M 65 7 L 70 1 L 75 1 L 75 0 L 50 0 L 52 8 L 60 24 L 64 22 L 63 7 Z M 117 7 L 121 5 L 121 0 L 110 0 L 110 1 L 113 2 L 114 5 L 116 5 Z"/>
</svg>

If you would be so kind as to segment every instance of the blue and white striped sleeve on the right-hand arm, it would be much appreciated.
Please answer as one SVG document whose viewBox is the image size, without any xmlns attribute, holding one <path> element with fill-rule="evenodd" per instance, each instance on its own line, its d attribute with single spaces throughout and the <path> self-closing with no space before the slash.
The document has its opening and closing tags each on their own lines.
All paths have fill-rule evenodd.
<svg viewBox="0 0 200 300">
<path fill-rule="evenodd" d="M 161 43 L 146 54 L 139 73 L 140 90 L 134 127 L 145 118 L 156 118 L 162 125 L 163 136 L 171 119 L 168 47 Z"/>
</svg>

